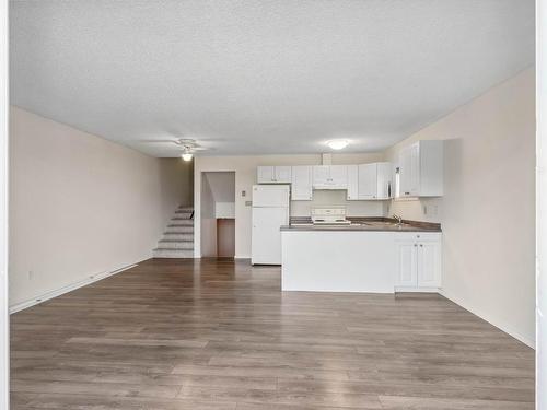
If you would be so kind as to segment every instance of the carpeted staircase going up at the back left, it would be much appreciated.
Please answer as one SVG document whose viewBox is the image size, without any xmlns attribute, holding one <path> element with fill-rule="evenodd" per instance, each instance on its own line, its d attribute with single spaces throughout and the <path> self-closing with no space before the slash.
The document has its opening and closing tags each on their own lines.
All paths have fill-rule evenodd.
<svg viewBox="0 0 547 410">
<path fill-rule="evenodd" d="M 153 257 L 194 258 L 194 207 L 179 207 L 175 211 Z"/>
</svg>

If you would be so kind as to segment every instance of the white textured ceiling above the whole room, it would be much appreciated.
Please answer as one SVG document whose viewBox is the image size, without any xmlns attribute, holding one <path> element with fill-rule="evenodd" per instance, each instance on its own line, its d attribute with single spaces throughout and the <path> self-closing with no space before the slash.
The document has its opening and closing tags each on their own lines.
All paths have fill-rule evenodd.
<svg viewBox="0 0 547 410">
<path fill-rule="evenodd" d="M 12 1 L 12 104 L 156 156 L 377 151 L 534 63 L 534 0 Z M 202 153 L 203 154 L 203 153 Z"/>
</svg>

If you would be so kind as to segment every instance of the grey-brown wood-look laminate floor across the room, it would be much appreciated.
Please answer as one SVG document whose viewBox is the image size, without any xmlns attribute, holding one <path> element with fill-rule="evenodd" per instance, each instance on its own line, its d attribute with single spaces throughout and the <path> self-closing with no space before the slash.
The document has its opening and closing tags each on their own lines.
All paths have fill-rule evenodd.
<svg viewBox="0 0 547 410">
<path fill-rule="evenodd" d="M 151 259 L 11 317 L 12 409 L 534 409 L 534 351 L 439 295 Z"/>
</svg>

